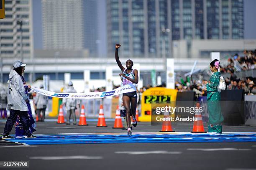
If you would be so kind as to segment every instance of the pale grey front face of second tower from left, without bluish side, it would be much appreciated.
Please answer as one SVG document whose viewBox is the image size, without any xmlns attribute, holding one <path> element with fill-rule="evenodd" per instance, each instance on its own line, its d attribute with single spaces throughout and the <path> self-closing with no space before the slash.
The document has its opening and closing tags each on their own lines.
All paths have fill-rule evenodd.
<svg viewBox="0 0 256 170">
<path fill-rule="evenodd" d="M 44 49 L 82 49 L 83 0 L 42 0 Z"/>
</svg>

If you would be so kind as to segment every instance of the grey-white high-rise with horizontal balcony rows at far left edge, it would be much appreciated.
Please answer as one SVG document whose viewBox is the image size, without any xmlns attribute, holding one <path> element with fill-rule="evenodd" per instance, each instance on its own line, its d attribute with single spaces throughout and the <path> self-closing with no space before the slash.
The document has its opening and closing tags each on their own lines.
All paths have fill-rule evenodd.
<svg viewBox="0 0 256 170">
<path fill-rule="evenodd" d="M 0 56 L 19 60 L 33 56 L 32 25 L 31 0 L 5 0 L 5 18 L 0 20 Z"/>
</svg>

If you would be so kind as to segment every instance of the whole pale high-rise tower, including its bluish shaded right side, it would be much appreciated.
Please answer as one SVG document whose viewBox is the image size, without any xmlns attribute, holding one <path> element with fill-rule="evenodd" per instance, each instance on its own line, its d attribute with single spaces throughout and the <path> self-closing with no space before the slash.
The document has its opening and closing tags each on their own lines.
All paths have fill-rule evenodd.
<svg viewBox="0 0 256 170">
<path fill-rule="evenodd" d="M 97 53 L 97 0 L 42 0 L 44 49 Z"/>
</svg>

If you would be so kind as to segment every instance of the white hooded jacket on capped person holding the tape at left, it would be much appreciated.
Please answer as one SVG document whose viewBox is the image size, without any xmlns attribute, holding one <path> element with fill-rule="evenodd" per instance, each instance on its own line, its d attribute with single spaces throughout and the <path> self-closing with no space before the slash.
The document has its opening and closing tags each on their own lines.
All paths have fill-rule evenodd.
<svg viewBox="0 0 256 170">
<path fill-rule="evenodd" d="M 25 101 L 26 99 L 28 99 L 28 95 L 26 94 L 26 90 L 20 75 L 15 70 L 10 71 L 9 80 L 7 83 L 8 104 L 6 109 L 28 111 L 28 107 Z"/>
</svg>

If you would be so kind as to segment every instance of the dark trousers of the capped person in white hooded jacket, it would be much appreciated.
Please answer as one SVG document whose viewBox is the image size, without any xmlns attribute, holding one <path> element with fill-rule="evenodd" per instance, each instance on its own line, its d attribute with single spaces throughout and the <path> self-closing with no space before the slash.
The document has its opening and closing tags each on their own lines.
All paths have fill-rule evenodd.
<svg viewBox="0 0 256 170">
<path fill-rule="evenodd" d="M 29 118 L 28 118 L 28 111 L 20 111 L 20 110 L 13 110 L 10 109 L 10 117 L 8 117 L 5 123 L 4 135 L 9 135 L 10 131 L 13 129 L 13 124 L 17 119 L 17 116 L 20 117 L 20 122 L 23 125 L 25 135 L 31 135 L 29 131 Z"/>
</svg>

